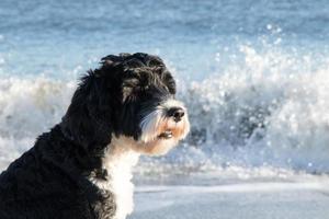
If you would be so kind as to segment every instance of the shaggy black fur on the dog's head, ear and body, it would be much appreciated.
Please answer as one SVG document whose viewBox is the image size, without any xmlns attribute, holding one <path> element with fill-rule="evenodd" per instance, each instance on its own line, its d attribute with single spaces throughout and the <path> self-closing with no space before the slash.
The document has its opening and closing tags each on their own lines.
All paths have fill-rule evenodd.
<svg viewBox="0 0 329 219">
<path fill-rule="evenodd" d="M 102 158 L 112 134 L 138 139 L 140 119 L 175 83 L 156 56 L 111 55 L 101 64 L 81 79 L 63 122 L 1 173 L 1 219 L 113 218 L 114 195 L 89 178 L 111 178 Z"/>
</svg>

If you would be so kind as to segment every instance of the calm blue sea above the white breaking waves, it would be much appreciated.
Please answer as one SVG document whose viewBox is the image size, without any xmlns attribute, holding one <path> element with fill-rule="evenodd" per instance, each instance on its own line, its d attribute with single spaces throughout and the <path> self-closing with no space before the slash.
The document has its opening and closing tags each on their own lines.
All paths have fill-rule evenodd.
<svg viewBox="0 0 329 219">
<path fill-rule="evenodd" d="M 107 54 L 146 51 L 201 79 L 217 69 L 216 53 L 261 48 L 261 37 L 325 53 L 328 11 L 325 0 L 1 0 L 1 74 L 58 78 Z"/>
</svg>

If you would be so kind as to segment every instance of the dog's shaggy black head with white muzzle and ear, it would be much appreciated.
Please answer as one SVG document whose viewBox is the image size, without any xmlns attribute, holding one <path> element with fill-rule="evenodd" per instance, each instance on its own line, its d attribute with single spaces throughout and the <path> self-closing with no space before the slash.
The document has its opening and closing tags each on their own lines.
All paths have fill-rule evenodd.
<svg viewBox="0 0 329 219">
<path fill-rule="evenodd" d="M 174 99 L 175 82 L 159 57 L 111 55 L 101 64 L 82 78 L 63 119 L 72 140 L 90 148 L 115 137 L 139 152 L 163 154 L 186 136 L 186 108 Z"/>
</svg>

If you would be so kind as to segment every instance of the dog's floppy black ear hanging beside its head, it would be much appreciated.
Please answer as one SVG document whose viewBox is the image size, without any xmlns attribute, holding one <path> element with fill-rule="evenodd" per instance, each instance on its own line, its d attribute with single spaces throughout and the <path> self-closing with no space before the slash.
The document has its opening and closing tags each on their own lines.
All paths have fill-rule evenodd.
<svg viewBox="0 0 329 219">
<path fill-rule="evenodd" d="M 61 122 L 64 134 L 86 149 L 105 147 L 111 142 L 111 97 L 103 91 L 103 83 L 93 71 L 89 71 L 81 79 Z"/>
</svg>

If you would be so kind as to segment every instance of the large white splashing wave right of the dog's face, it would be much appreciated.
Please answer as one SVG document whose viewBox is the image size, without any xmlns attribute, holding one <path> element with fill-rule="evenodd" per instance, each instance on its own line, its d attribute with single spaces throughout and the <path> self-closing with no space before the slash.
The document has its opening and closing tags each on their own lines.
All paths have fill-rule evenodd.
<svg viewBox="0 0 329 219">
<path fill-rule="evenodd" d="M 329 61 L 240 50 L 242 65 L 183 93 L 196 155 L 205 163 L 328 172 Z"/>
</svg>

